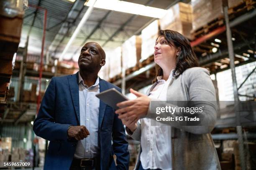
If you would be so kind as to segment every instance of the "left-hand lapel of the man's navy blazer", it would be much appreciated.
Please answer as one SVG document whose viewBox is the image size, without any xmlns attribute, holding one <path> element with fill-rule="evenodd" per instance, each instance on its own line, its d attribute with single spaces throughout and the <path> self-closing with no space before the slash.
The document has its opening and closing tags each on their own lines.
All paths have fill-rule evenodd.
<svg viewBox="0 0 256 170">
<path fill-rule="evenodd" d="M 74 75 L 69 76 L 68 81 L 74 109 L 77 115 L 77 120 L 80 125 L 78 72 Z"/>
</svg>

